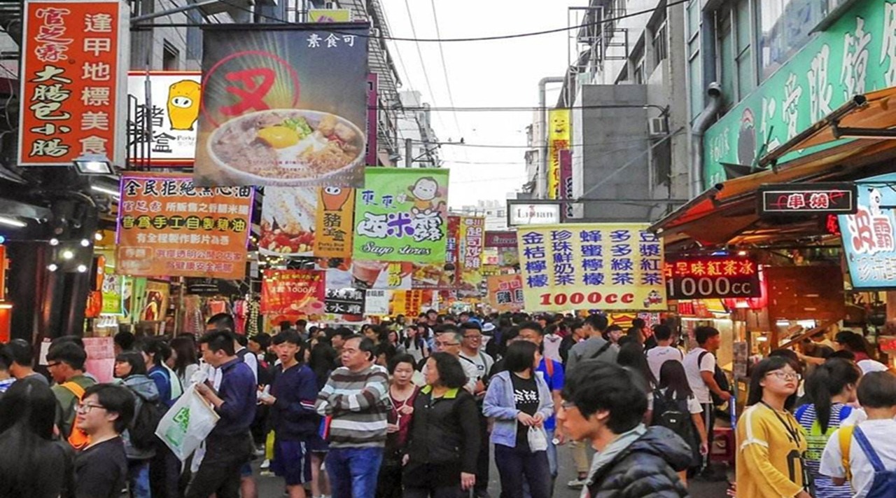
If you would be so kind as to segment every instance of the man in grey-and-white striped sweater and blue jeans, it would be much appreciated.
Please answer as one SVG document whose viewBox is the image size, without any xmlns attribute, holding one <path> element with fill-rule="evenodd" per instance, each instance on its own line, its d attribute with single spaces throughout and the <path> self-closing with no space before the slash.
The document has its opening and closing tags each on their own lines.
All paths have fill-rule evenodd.
<svg viewBox="0 0 896 498">
<path fill-rule="evenodd" d="M 326 459 L 332 498 L 372 497 L 386 441 L 389 374 L 374 364 L 374 343 L 365 336 L 346 338 L 340 358 L 315 405 L 332 417 Z"/>
</svg>

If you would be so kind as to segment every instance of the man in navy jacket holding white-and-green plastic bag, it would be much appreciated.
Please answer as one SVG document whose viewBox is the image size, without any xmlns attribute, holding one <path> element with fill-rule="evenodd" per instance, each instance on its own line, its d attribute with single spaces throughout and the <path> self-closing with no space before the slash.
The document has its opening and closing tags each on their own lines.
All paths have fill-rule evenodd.
<svg viewBox="0 0 896 498">
<path fill-rule="evenodd" d="M 199 339 L 202 359 L 220 370 L 218 392 L 207 383 L 196 391 L 209 401 L 220 420 L 205 440 L 205 457 L 186 490 L 187 498 L 239 498 L 240 468 L 252 457 L 249 426 L 255 417 L 257 383 L 254 373 L 234 351 L 228 331 L 211 331 Z"/>
</svg>

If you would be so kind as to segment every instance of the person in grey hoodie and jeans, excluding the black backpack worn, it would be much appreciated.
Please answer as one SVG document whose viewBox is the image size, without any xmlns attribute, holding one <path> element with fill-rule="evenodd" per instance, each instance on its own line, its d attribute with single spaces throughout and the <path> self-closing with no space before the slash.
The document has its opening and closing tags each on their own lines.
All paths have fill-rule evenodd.
<svg viewBox="0 0 896 498">
<path fill-rule="evenodd" d="M 143 403 L 159 401 L 159 389 L 155 381 L 146 375 L 146 363 L 142 354 L 136 351 L 119 353 L 115 358 L 115 377 L 134 393 L 134 421 Z M 134 423 L 132 421 L 132 425 Z M 127 455 L 127 483 L 132 498 L 150 498 L 150 460 L 156 455 L 154 449 L 138 449 L 131 442 L 128 431 L 122 434 Z"/>
</svg>

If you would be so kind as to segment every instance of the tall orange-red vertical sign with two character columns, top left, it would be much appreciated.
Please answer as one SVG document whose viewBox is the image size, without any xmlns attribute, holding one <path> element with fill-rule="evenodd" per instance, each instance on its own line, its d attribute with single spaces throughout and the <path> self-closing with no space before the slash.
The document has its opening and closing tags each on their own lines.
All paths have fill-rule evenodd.
<svg viewBox="0 0 896 498">
<path fill-rule="evenodd" d="M 102 154 L 122 165 L 128 4 L 28 0 L 22 19 L 19 164 Z"/>
</svg>

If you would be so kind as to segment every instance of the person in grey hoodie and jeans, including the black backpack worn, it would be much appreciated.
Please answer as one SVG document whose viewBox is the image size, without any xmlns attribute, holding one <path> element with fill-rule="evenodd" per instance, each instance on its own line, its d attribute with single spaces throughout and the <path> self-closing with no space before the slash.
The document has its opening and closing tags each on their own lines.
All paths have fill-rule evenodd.
<svg viewBox="0 0 896 498">
<path fill-rule="evenodd" d="M 155 418 L 158 426 L 164 410 L 159 406 L 159 389 L 146 375 L 146 363 L 142 354 L 125 351 L 116 356 L 115 377 L 134 394 L 134 420 L 131 428 L 122 433 L 127 455 L 127 485 L 131 498 L 151 498 L 150 460 L 156 455 L 152 441 L 145 441 L 147 431 L 155 438 L 155 427 L 147 427 L 147 421 Z M 152 413 L 151 413 L 152 412 Z M 152 423 L 149 422 L 148 425 Z M 138 427 L 139 425 L 139 427 Z M 134 434 L 139 432 L 139 437 Z"/>
</svg>

